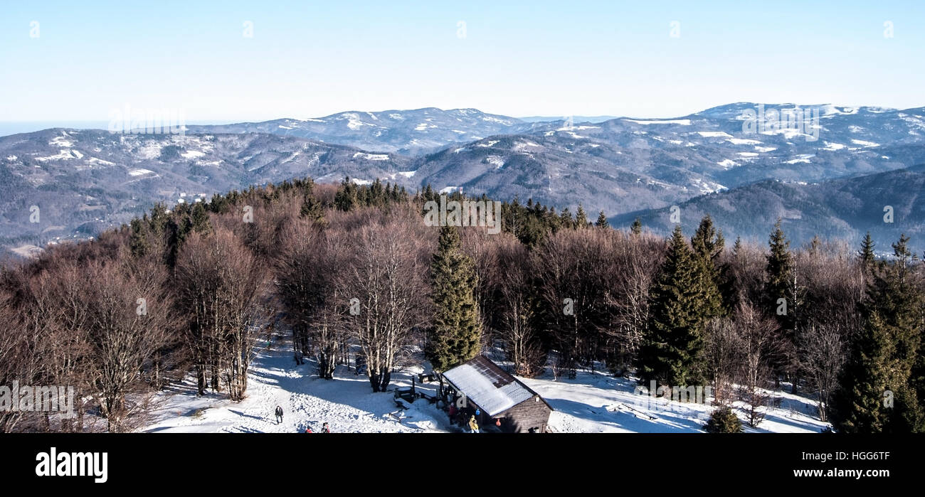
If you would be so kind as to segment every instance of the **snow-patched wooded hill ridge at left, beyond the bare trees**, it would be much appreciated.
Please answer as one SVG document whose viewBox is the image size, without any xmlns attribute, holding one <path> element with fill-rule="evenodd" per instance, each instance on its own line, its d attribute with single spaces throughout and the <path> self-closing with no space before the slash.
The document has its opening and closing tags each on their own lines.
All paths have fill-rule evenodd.
<svg viewBox="0 0 925 497">
<path fill-rule="evenodd" d="M 410 160 L 389 153 L 262 133 L 121 135 L 46 129 L 0 138 L 0 245 L 92 236 L 156 202 L 293 177 L 401 177 Z M 40 208 L 31 223 L 31 206 Z"/>
</svg>

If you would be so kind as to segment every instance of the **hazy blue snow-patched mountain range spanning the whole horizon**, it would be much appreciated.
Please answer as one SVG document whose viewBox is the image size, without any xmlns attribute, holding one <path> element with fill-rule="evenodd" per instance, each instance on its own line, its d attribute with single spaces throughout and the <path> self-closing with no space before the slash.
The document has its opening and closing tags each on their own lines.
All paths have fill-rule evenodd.
<svg viewBox="0 0 925 497">
<path fill-rule="evenodd" d="M 581 203 L 586 212 L 603 210 L 623 220 L 748 186 L 754 188 L 732 195 L 756 210 L 773 211 L 774 196 L 789 205 L 798 199 L 800 183 L 828 184 L 925 164 L 925 108 L 802 106 L 818 123 L 799 129 L 744 126 L 748 112 L 760 109 L 767 116 L 794 107 L 730 103 L 672 119 L 597 123 L 525 122 L 475 109 L 425 108 L 189 125 L 185 135 L 45 129 L 0 138 L 0 245 L 92 236 L 154 202 L 175 204 L 180 194 L 211 196 L 292 177 L 332 183 L 343 176 L 380 178 L 412 191 L 428 184 L 462 188 L 498 199 L 532 198 L 559 210 Z M 807 205 L 835 209 L 830 203 L 838 198 L 823 195 Z M 893 203 L 903 200 L 909 201 Z M 32 205 L 41 207 L 41 224 L 29 222 Z M 800 205 L 781 209 L 802 212 Z M 757 220 L 759 213 L 777 215 L 749 217 Z M 834 222 L 843 219 L 839 214 L 835 224 L 808 232 L 850 236 L 849 226 L 860 228 L 848 214 L 844 226 Z M 746 228 L 736 231 L 752 233 Z M 754 233 L 767 229 L 762 224 Z"/>
</svg>

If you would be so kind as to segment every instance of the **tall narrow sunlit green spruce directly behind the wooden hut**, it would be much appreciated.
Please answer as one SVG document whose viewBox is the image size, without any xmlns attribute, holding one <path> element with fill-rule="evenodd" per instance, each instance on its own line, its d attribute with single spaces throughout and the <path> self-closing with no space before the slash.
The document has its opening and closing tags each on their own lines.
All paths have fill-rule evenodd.
<svg viewBox="0 0 925 497">
<path fill-rule="evenodd" d="M 455 226 L 440 228 L 430 268 L 434 321 L 427 333 L 425 354 L 434 370 L 445 371 L 475 358 L 482 340 L 475 302 L 475 262 L 462 253 Z"/>
</svg>

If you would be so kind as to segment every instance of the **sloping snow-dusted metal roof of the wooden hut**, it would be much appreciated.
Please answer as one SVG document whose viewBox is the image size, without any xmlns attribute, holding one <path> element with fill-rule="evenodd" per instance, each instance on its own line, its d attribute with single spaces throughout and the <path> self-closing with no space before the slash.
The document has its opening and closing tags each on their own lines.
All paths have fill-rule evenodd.
<svg viewBox="0 0 925 497">
<path fill-rule="evenodd" d="M 443 377 L 488 416 L 495 416 L 536 395 L 523 382 L 483 356 L 444 372 Z"/>
</svg>

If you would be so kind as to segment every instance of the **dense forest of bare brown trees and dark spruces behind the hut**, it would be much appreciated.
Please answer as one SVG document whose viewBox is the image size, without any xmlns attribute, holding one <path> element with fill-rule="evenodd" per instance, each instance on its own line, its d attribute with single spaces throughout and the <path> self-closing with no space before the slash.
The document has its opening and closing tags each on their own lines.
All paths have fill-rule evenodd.
<svg viewBox="0 0 925 497">
<path fill-rule="evenodd" d="M 518 199 L 490 234 L 426 225 L 439 196 L 294 180 L 157 205 L 8 261 L 0 384 L 71 385 L 78 416 L 0 411 L 0 430 L 131 430 L 150 394 L 189 375 L 240 400 L 270 333 L 325 379 L 362 355 L 373 392 L 402 365 L 447 370 L 491 349 L 522 376 L 708 385 L 719 414 L 744 401 L 752 426 L 777 388 L 815 399 L 836 431 L 925 430 L 925 279 L 906 236 L 792 248 L 779 221 L 768 245 L 728 247 L 709 216 L 664 238 Z"/>
</svg>

